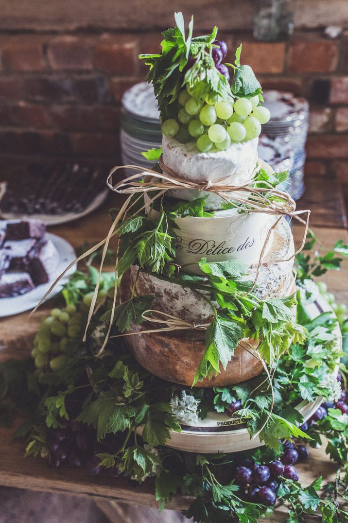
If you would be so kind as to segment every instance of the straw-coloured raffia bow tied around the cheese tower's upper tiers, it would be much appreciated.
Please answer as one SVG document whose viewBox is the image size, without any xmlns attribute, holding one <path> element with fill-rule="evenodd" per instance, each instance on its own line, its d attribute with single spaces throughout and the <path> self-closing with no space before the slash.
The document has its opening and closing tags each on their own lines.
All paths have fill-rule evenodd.
<svg viewBox="0 0 348 523">
<path fill-rule="evenodd" d="M 114 237 L 117 234 L 117 225 L 120 221 L 124 220 L 131 210 L 131 208 L 134 206 L 136 202 L 131 203 L 131 198 L 133 195 L 139 194 L 139 197 L 137 201 L 141 198 L 141 196 L 147 194 L 151 191 L 158 191 L 155 192 L 155 194 L 151 198 L 147 198 L 147 201 L 145 201 L 144 205 L 139 209 L 135 214 L 138 214 L 143 209 L 148 209 L 151 204 L 158 198 L 160 198 L 162 195 L 165 194 L 168 190 L 171 189 L 194 189 L 199 192 L 207 191 L 211 192 L 213 194 L 216 194 L 223 200 L 227 201 L 228 203 L 238 203 L 238 208 L 240 210 L 243 210 L 245 212 L 261 212 L 265 214 L 269 214 L 272 216 L 277 216 L 278 218 L 274 221 L 271 228 L 268 230 L 266 240 L 264 242 L 259 262 L 257 265 L 256 275 L 254 282 L 252 284 L 251 289 L 246 292 L 250 293 L 252 289 L 255 286 L 257 277 L 259 276 L 259 270 L 262 265 L 262 260 L 266 251 L 266 247 L 268 244 L 268 241 L 270 240 L 272 231 L 277 226 L 280 219 L 282 219 L 283 216 L 289 216 L 291 218 L 295 218 L 301 223 L 305 224 L 305 232 L 302 237 L 302 243 L 299 249 L 288 259 L 283 260 L 272 260 L 267 263 L 267 265 L 271 263 L 276 263 L 277 261 L 289 261 L 292 259 L 298 252 L 302 250 L 302 248 L 305 245 L 307 231 L 308 231 L 308 222 L 309 222 L 309 210 L 305 211 L 296 211 L 296 204 L 293 198 L 284 191 L 279 191 L 278 189 L 275 189 L 270 183 L 263 181 L 263 187 L 257 187 L 255 186 L 255 181 L 253 180 L 255 174 L 259 172 L 260 168 L 264 168 L 268 173 L 273 173 L 272 168 L 263 160 L 257 160 L 256 166 L 253 169 L 253 172 L 249 178 L 249 180 L 246 180 L 244 183 L 239 185 L 231 185 L 231 184 L 223 184 L 223 182 L 226 179 L 219 180 L 219 183 L 214 183 L 210 180 L 203 181 L 200 183 L 196 183 L 192 180 L 183 178 L 177 174 L 175 174 L 169 167 L 167 167 L 164 162 L 163 158 L 161 156 L 160 158 L 160 167 L 163 170 L 163 173 L 158 173 L 153 169 L 146 169 L 144 170 L 143 167 L 138 165 L 117 165 L 113 169 L 110 170 L 109 176 L 107 178 L 106 184 L 107 186 L 117 192 L 121 195 L 128 195 L 128 198 L 126 199 L 125 203 L 122 205 L 121 209 L 119 210 L 113 224 L 111 225 L 111 228 L 107 234 L 107 236 L 104 238 L 104 240 L 97 243 L 94 247 L 91 247 L 86 251 L 84 254 L 76 258 L 72 263 L 62 272 L 62 274 L 53 282 L 49 290 L 44 294 L 38 305 L 35 309 L 30 313 L 29 317 L 38 309 L 38 307 L 41 305 L 41 303 L 47 298 L 47 296 L 50 294 L 52 289 L 57 285 L 57 283 L 60 281 L 60 279 L 66 274 L 66 272 L 78 261 L 82 260 L 86 256 L 92 254 L 95 252 L 99 247 L 103 247 L 103 254 L 102 254 L 102 260 L 100 262 L 99 272 L 98 272 L 98 279 L 95 286 L 93 299 L 91 306 L 89 308 L 88 312 L 88 318 L 87 318 L 87 325 L 85 329 L 85 334 L 83 340 L 86 339 L 86 333 L 89 326 L 89 323 L 91 321 L 92 315 L 95 310 L 95 305 L 97 301 L 97 294 L 99 290 L 100 285 L 100 278 L 102 275 L 104 260 L 106 256 L 106 252 L 109 246 L 109 242 L 112 237 Z M 113 184 L 112 178 L 113 174 L 117 172 L 117 170 L 121 168 L 129 168 L 133 170 L 138 170 L 139 173 L 134 174 L 124 180 L 119 181 L 116 185 Z M 141 178 L 142 175 L 145 175 L 144 179 Z M 235 173 L 232 175 L 232 178 L 237 176 L 238 173 Z M 141 179 L 139 179 L 141 178 Z M 230 179 L 231 177 L 229 177 Z M 307 214 L 307 219 L 304 220 L 300 218 L 300 214 Z M 108 326 L 108 331 L 106 334 L 106 337 L 104 339 L 104 343 L 102 347 L 99 350 L 98 356 L 103 353 L 105 346 L 107 344 L 108 336 L 111 330 L 111 326 L 113 324 L 113 318 L 114 318 L 114 312 L 116 307 L 116 300 L 117 300 L 117 265 L 118 265 L 118 258 L 116 258 L 116 264 L 115 264 L 115 289 L 114 289 L 114 299 L 113 299 L 113 306 L 111 308 L 111 316 L 110 316 L 110 322 Z M 178 327 L 176 327 L 178 328 Z M 174 329 L 174 326 L 172 326 L 171 330 Z"/>
</svg>

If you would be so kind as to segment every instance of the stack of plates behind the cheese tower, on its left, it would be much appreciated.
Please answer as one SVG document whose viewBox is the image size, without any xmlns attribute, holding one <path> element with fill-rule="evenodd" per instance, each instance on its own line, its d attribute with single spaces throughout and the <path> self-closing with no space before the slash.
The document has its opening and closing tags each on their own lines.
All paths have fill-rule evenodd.
<svg viewBox="0 0 348 523">
<path fill-rule="evenodd" d="M 160 147 L 162 142 L 160 113 L 152 85 L 147 82 L 133 85 L 122 97 L 121 160 L 123 165 L 151 167 L 142 152 Z M 125 169 L 126 176 L 135 174 Z"/>
</svg>

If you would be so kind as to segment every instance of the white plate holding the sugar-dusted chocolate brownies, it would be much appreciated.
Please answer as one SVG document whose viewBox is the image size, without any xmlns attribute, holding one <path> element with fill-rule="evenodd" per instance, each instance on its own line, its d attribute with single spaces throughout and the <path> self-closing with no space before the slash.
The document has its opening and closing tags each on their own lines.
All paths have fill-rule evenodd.
<svg viewBox="0 0 348 523">
<path fill-rule="evenodd" d="M 32 291 L 26 292 L 21 296 L 16 296 L 15 298 L 1 298 L 0 299 L 0 317 L 12 316 L 14 314 L 19 314 L 20 312 L 29 311 L 36 307 L 43 295 L 48 291 L 53 281 L 58 278 L 58 276 L 66 269 L 68 265 L 76 258 L 76 253 L 70 245 L 69 242 L 57 236 L 57 234 L 46 233 L 45 238 L 51 240 L 57 248 L 59 253 L 59 265 L 52 275 L 52 279 L 48 283 L 43 283 L 38 287 L 35 287 Z M 57 294 L 64 283 L 68 281 L 68 276 L 75 272 L 77 264 L 73 265 L 64 278 L 54 287 L 52 292 L 49 294 L 47 299 L 49 300 L 55 294 Z"/>
</svg>

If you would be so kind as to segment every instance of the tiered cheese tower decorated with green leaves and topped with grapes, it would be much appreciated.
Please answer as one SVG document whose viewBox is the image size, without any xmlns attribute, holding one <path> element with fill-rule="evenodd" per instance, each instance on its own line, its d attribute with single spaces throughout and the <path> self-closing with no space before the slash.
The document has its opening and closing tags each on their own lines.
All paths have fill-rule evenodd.
<svg viewBox="0 0 348 523">
<path fill-rule="evenodd" d="M 227 45 L 216 39 L 216 28 L 185 40 L 179 27 L 164 31 L 172 44 L 162 42 L 162 54 L 140 58 L 150 66 L 161 111 L 155 169 L 196 187 L 171 188 L 158 199 L 145 192 L 141 224 L 128 218 L 121 225 L 120 301 L 134 310 L 143 303 L 125 343 L 144 368 L 165 380 L 224 386 L 260 374 L 268 358 L 263 355 L 277 350 L 268 352 L 272 336 L 257 324 L 257 311 L 271 322 L 270 332 L 272 321 L 284 322 L 286 333 L 296 331 L 288 298 L 295 291 L 289 225 L 280 214 L 255 209 L 245 190 L 267 187 L 263 201 L 270 202 L 286 173 L 273 173 L 258 160 L 261 124 L 270 111 L 251 68 L 240 63 L 241 46 L 229 70 L 222 63 Z M 173 34 L 186 42 L 181 61 Z M 232 190 L 221 196 L 209 190 L 211 184 Z M 264 312 L 265 303 L 277 310 L 275 320 Z"/>
</svg>

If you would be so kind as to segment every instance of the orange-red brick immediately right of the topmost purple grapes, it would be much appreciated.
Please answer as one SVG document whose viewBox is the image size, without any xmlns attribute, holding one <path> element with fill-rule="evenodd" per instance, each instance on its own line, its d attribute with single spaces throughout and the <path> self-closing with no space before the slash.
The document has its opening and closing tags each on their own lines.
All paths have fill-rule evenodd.
<svg viewBox="0 0 348 523">
<path fill-rule="evenodd" d="M 252 67 L 254 73 L 282 73 L 284 70 L 284 42 L 245 42 L 241 63 Z M 232 61 L 233 63 L 233 61 Z"/>
</svg>

